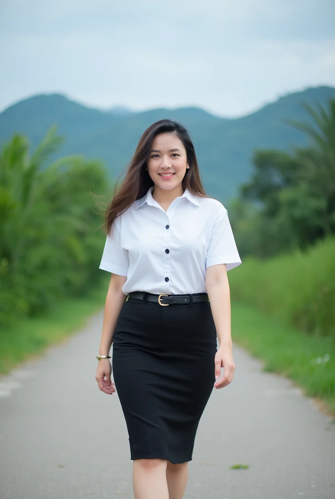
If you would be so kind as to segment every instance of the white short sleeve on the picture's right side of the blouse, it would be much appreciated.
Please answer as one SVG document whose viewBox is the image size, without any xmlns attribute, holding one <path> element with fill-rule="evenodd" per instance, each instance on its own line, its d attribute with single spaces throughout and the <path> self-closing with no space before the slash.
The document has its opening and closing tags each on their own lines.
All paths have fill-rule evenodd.
<svg viewBox="0 0 335 499">
<path fill-rule="evenodd" d="M 218 203 L 210 242 L 206 252 L 205 267 L 226 263 L 227 270 L 242 263 L 238 253 L 227 210 Z"/>
</svg>

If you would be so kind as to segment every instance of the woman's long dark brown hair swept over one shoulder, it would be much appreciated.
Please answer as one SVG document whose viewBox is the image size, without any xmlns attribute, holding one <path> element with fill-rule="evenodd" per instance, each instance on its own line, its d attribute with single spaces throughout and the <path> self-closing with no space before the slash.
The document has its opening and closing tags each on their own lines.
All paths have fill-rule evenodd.
<svg viewBox="0 0 335 499">
<path fill-rule="evenodd" d="M 149 188 L 154 185 L 149 172 L 146 170 L 147 161 L 154 137 L 165 132 L 177 135 L 186 149 L 189 168 L 186 169 L 185 176 L 182 179 L 183 189 L 185 190 L 187 187 L 195 196 L 208 198 L 201 183 L 194 146 L 186 128 L 174 120 L 156 121 L 143 133 L 135 154 L 126 167 L 124 180 L 119 187 L 117 187 L 117 183 L 115 185 L 113 200 L 108 205 L 105 213 L 104 229 L 107 234 L 110 235 L 116 217 L 124 213 L 137 199 L 143 198 Z M 123 173 L 121 173 L 117 182 Z"/>
</svg>

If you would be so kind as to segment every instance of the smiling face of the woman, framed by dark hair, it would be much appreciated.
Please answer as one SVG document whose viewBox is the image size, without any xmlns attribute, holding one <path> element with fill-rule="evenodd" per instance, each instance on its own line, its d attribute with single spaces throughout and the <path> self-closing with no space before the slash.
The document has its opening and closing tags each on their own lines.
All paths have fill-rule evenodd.
<svg viewBox="0 0 335 499">
<path fill-rule="evenodd" d="M 147 165 L 148 173 L 156 187 L 164 190 L 175 189 L 189 168 L 186 149 L 177 135 L 170 132 L 156 135 Z"/>
</svg>

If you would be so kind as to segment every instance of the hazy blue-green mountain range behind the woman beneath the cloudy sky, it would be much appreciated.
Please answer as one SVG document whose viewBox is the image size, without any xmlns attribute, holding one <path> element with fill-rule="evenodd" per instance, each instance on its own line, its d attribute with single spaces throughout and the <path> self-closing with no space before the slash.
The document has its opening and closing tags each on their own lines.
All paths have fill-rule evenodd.
<svg viewBox="0 0 335 499">
<path fill-rule="evenodd" d="M 101 159 L 116 178 L 150 124 L 162 118 L 177 119 L 190 132 L 207 193 L 227 204 L 238 185 L 250 176 L 253 150 L 306 145 L 306 136 L 284 120 L 305 120 L 302 102 L 325 104 L 330 97 L 335 97 L 333 87 L 308 88 L 281 97 L 248 116 L 224 119 L 195 107 L 101 111 L 63 95 L 36 95 L 0 114 L 0 143 L 14 132 L 23 132 L 35 147 L 47 129 L 57 124 L 58 132 L 66 139 L 59 155 L 84 154 Z"/>
</svg>

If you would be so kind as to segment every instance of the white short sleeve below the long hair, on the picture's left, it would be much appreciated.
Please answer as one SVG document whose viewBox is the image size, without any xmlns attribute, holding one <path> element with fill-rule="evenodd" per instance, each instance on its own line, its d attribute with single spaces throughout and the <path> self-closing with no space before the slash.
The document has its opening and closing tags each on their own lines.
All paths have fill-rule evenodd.
<svg viewBox="0 0 335 499">
<path fill-rule="evenodd" d="M 111 235 L 107 236 L 99 268 L 113 274 L 127 275 L 129 267 L 128 251 L 121 247 L 120 216 L 114 221 Z"/>
</svg>

